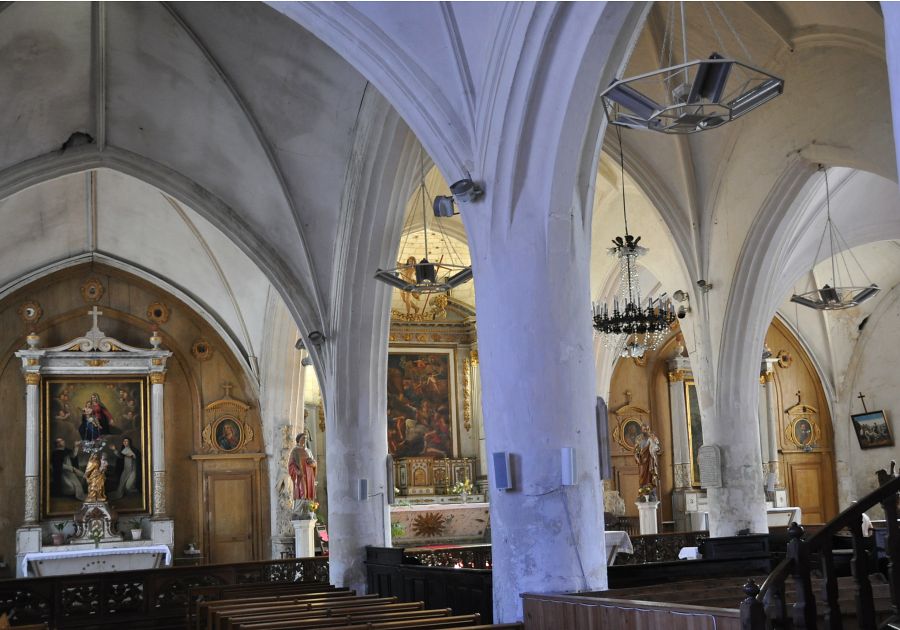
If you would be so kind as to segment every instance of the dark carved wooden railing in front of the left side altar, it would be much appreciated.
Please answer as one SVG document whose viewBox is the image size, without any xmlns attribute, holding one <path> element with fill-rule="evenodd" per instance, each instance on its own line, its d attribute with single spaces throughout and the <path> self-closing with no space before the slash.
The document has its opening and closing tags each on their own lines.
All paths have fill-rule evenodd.
<svg viewBox="0 0 900 630">
<path fill-rule="evenodd" d="M 191 588 L 267 582 L 327 584 L 328 558 L 0 580 L 0 614 L 50 628 L 183 628 Z"/>
</svg>

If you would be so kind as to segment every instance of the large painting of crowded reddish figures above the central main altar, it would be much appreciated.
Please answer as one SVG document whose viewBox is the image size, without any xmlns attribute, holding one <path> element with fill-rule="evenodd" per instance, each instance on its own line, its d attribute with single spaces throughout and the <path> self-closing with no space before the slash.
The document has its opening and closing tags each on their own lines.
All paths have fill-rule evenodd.
<svg viewBox="0 0 900 630">
<path fill-rule="evenodd" d="M 394 457 L 454 456 L 456 394 L 453 350 L 388 354 L 388 451 Z"/>
</svg>

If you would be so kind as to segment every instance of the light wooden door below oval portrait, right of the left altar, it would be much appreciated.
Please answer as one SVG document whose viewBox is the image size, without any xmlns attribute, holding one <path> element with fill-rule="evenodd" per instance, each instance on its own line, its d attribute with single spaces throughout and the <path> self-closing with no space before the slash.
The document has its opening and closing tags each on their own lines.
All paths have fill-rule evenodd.
<svg viewBox="0 0 900 630">
<path fill-rule="evenodd" d="M 255 560 L 253 474 L 208 473 L 204 486 L 210 563 Z"/>
</svg>

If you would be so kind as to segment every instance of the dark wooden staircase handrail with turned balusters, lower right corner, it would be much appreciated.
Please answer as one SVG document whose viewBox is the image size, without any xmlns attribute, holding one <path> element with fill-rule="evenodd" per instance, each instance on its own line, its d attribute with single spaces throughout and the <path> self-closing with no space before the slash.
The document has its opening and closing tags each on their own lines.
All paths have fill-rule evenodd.
<svg viewBox="0 0 900 630">
<path fill-rule="evenodd" d="M 884 509 L 888 527 L 887 556 L 888 579 L 890 582 L 891 608 L 893 618 L 897 618 L 900 603 L 900 527 L 897 523 L 897 500 L 900 492 L 900 477 L 894 476 L 891 463 L 890 474 L 879 471 L 881 486 L 864 499 L 841 512 L 809 540 L 803 539 L 803 528 L 792 523 L 788 529 L 789 541 L 787 557 L 775 567 L 762 586 L 753 580 L 744 586 L 747 597 L 741 602 L 742 630 L 766 630 L 773 628 L 818 628 L 818 609 L 812 587 L 811 560 L 817 557 L 823 576 L 821 603 L 825 627 L 839 630 L 843 627 L 841 608 L 838 601 L 838 581 L 834 568 L 834 535 L 848 529 L 853 540 L 851 569 L 856 587 L 855 603 L 857 627 L 875 630 L 875 602 L 872 583 L 869 580 L 869 556 L 862 532 L 862 515 L 877 504 Z M 794 604 L 791 615 L 787 614 L 785 583 L 789 577 L 794 580 Z M 771 624 L 771 625 L 769 625 Z"/>
</svg>

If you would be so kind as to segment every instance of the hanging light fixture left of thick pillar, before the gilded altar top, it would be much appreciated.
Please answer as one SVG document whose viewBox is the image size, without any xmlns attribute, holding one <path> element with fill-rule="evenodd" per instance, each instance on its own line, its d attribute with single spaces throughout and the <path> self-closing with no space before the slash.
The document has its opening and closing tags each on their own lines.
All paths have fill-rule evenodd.
<svg viewBox="0 0 900 630">
<path fill-rule="evenodd" d="M 444 234 L 440 221 L 438 221 L 438 230 L 445 245 L 449 246 L 450 257 L 452 260 L 459 259 L 457 262 L 444 262 L 444 256 L 441 256 L 438 262 L 432 262 L 428 259 L 428 211 L 432 204 L 428 203 L 428 189 L 425 186 L 425 152 L 419 154 L 419 167 L 421 178 L 419 183 L 419 202 L 422 206 L 422 232 L 425 235 L 425 255 L 416 262 L 415 256 L 409 256 L 405 263 L 400 263 L 392 269 L 377 269 L 375 278 L 391 285 L 401 291 L 409 293 L 446 293 L 459 285 L 472 279 L 471 265 L 463 265 L 461 257 L 456 253 L 452 243 L 450 243 L 447 235 Z M 459 182 L 457 182 L 459 183 Z M 454 184 L 456 185 L 456 184 Z M 436 214 L 436 212 L 435 212 Z M 412 221 L 412 214 L 407 219 L 407 226 Z M 409 233 L 408 229 L 404 230 Z M 401 248 L 402 250 L 402 248 Z"/>
</svg>

